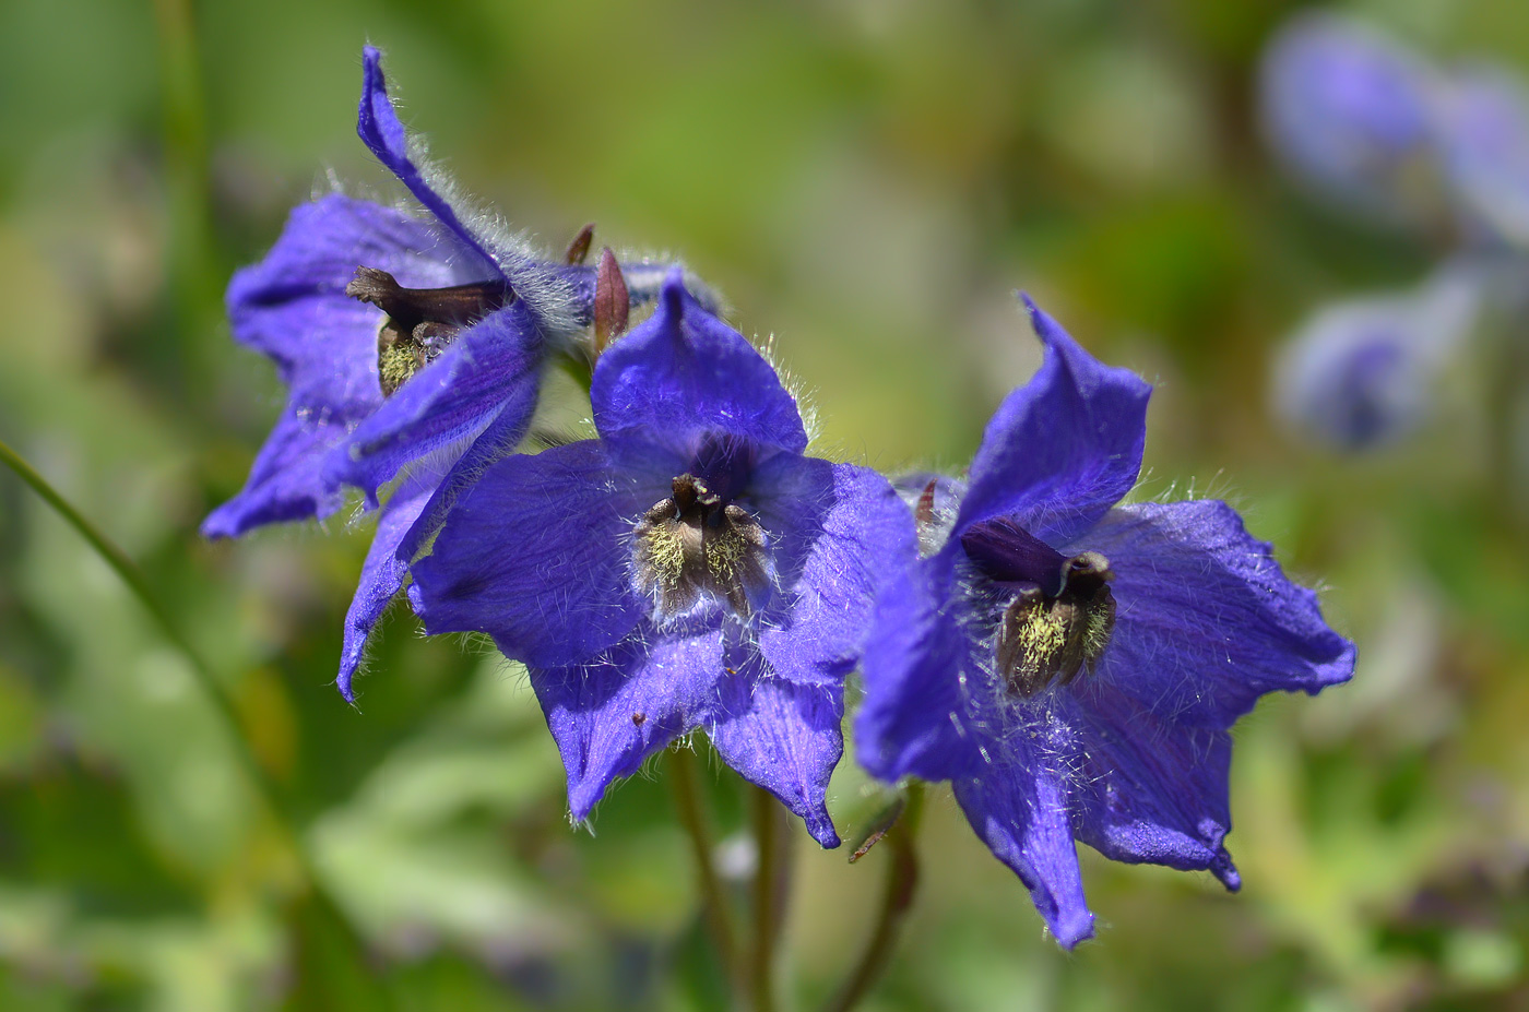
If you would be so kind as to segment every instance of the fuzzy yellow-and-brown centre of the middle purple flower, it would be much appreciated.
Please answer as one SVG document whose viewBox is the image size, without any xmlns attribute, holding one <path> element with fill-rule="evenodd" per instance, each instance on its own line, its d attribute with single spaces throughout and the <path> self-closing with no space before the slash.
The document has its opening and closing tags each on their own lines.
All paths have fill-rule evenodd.
<svg viewBox="0 0 1529 1012">
<path fill-rule="evenodd" d="M 748 618 L 751 598 L 769 582 L 764 529 L 693 474 L 674 478 L 673 495 L 644 514 L 635 534 L 638 589 L 653 595 L 665 618 L 703 596 L 722 598 Z"/>
</svg>

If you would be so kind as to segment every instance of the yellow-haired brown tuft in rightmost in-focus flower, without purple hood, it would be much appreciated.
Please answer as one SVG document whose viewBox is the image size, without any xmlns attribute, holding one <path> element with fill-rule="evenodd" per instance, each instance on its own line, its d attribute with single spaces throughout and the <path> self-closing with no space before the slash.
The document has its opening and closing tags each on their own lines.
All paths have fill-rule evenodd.
<svg viewBox="0 0 1529 1012">
<path fill-rule="evenodd" d="M 1029 699 L 1084 668 L 1093 674 L 1115 630 L 1112 578 L 1109 560 L 1084 552 L 1067 560 L 1057 595 L 1034 584 L 1020 590 L 1003 611 L 995 657 L 1014 694 Z"/>
</svg>

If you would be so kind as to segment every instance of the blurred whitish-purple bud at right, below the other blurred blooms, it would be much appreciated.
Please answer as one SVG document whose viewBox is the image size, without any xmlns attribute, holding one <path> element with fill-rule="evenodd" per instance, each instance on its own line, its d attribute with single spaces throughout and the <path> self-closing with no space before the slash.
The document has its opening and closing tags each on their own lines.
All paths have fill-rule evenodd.
<svg viewBox="0 0 1529 1012">
<path fill-rule="evenodd" d="M 1446 264 L 1423 286 L 1318 310 L 1280 352 L 1274 402 L 1342 451 L 1391 445 L 1430 414 L 1440 371 L 1469 336 L 1483 278 Z"/>
</svg>

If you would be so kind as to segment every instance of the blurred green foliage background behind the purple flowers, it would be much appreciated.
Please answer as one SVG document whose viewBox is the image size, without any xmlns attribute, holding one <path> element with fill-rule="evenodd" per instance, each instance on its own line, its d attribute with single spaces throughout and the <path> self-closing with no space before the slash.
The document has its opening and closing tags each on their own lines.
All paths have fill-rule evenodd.
<svg viewBox="0 0 1529 1012">
<path fill-rule="evenodd" d="M 401 610 L 359 712 L 327 685 L 365 532 L 196 535 L 281 404 L 228 339 L 229 271 L 323 167 L 394 194 L 353 135 L 365 40 L 465 188 L 550 248 L 595 220 L 676 251 L 745 332 L 777 335 L 830 452 L 969 459 L 1038 361 L 1011 298 L 1027 289 L 1156 381 L 1145 494 L 1234 500 L 1359 642 L 1353 685 L 1238 726 L 1237 897 L 1090 851 L 1099 940 L 1069 955 L 933 792 L 920 897 L 867 1007 L 1529 1001 L 1529 553 L 1472 410 L 1482 365 L 1381 457 L 1324 456 L 1268 408 L 1272 350 L 1313 306 L 1410 284 L 1436 254 L 1275 167 L 1252 81 L 1295 5 L 187 3 L 0 5 L 0 437 L 211 659 L 370 965 L 332 958 L 187 660 L 0 475 L 0 1007 L 716 1001 L 662 763 L 613 792 L 598 838 L 570 830 L 524 677 L 480 644 L 427 642 Z M 1529 70 L 1529 6 L 1350 9 Z M 731 775 L 708 786 L 739 827 Z M 841 825 L 861 787 L 841 770 Z M 786 952 L 809 1004 L 858 951 L 887 858 L 795 839 Z"/>
</svg>

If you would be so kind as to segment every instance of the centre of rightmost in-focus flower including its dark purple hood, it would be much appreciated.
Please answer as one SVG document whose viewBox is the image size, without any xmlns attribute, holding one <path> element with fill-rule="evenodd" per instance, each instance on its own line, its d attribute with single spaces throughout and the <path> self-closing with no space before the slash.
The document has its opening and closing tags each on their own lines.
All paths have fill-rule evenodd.
<svg viewBox="0 0 1529 1012">
<path fill-rule="evenodd" d="M 1049 685 L 1070 683 L 1084 668 L 1093 673 L 1115 631 L 1107 558 L 1098 552 L 1066 558 L 1003 520 L 968 530 L 962 547 L 998 601 L 1008 601 L 994 663 L 1012 694 L 1029 699 Z"/>
</svg>

